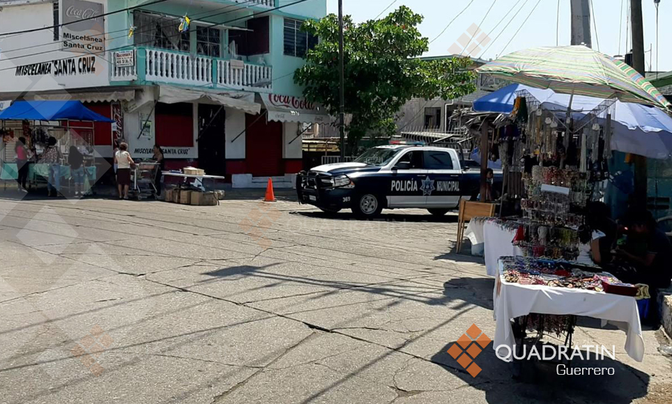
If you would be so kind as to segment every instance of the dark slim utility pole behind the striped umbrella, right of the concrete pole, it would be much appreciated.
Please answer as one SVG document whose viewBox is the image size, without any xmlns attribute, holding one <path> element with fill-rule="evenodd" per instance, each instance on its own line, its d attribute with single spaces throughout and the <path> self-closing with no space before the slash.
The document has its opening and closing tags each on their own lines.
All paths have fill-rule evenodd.
<svg viewBox="0 0 672 404">
<path fill-rule="evenodd" d="M 644 28 L 641 0 L 630 0 L 630 24 L 632 26 L 632 68 L 644 76 Z M 634 155 L 634 199 L 646 206 L 647 182 L 646 157 Z"/>
</svg>

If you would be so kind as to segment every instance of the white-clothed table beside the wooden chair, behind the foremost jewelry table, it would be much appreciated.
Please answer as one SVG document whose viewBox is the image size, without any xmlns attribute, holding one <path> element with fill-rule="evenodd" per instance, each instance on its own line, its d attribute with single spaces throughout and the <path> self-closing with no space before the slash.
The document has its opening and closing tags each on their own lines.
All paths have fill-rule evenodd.
<svg viewBox="0 0 672 404">
<path fill-rule="evenodd" d="M 523 255 L 523 251 L 513 244 L 516 231 L 502 226 L 502 223 L 501 219 L 494 217 L 471 219 L 464 233 L 471 244 L 484 243 L 485 270 L 493 278 L 499 273 L 499 258 Z"/>
</svg>

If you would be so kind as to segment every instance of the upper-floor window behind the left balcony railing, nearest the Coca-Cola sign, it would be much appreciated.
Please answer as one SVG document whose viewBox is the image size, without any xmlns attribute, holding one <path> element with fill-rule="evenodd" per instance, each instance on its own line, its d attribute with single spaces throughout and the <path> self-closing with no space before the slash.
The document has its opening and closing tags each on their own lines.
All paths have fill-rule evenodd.
<svg viewBox="0 0 672 404">
<path fill-rule="evenodd" d="M 133 24 L 135 45 L 190 52 L 189 32 L 180 33 L 179 22 L 170 15 L 158 15 L 136 10 Z"/>
</svg>

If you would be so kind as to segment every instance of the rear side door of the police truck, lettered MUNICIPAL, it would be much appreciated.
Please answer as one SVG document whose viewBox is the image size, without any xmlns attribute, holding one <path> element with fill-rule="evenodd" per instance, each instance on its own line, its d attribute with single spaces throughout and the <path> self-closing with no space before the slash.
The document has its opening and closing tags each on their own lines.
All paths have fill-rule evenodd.
<svg viewBox="0 0 672 404">
<path fill-rule="evenodd" d="M 427 179 L 423 192 L 427 196 L 427 208 L 455 208 L 460 198 L 461 171 L 448 150 L 425 150 L 424 164 Z"/>
</svg>

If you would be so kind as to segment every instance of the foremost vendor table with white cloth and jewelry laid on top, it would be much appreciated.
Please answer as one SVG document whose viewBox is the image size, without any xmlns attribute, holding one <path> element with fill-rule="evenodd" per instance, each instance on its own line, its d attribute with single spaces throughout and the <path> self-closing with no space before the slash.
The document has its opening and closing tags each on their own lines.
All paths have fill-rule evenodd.
<svg viewBox="0 0 672 404">
<path fill-rule="evenodd" d="M 508 347 L 499 348 L 498 355 L 502 359 L 511 360 L 515 347 L 522 345 L 525 325 L 530 325 L 530 318 L 526 316 L 544 313 L 556 316 L 543 319 L 545 331 L 565 333 L 568 337 L 575 321 L 566 316 L 600 318 L 616 325 L 626 334 L 627 355 L 637 362 L 642 361 L 644 340 L 634 297 L 639 293 L 636 286 L 620 283 L 611 274 L 556 261 L 505 257 L 498 267 L 493 292 L 497 323 L 494 346 Z M 512 318 L 517 321 L 512 323 Z M 542 327 L 537 325 L 535 328 Z"/>
</svg>

